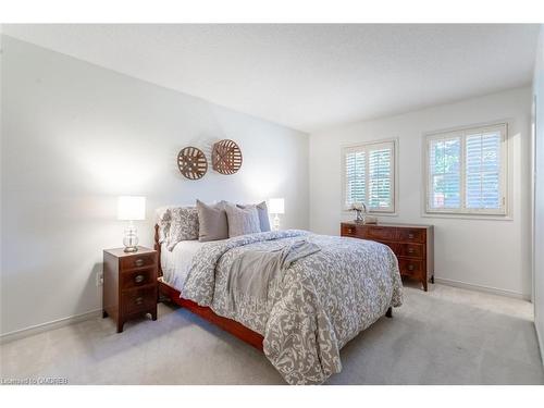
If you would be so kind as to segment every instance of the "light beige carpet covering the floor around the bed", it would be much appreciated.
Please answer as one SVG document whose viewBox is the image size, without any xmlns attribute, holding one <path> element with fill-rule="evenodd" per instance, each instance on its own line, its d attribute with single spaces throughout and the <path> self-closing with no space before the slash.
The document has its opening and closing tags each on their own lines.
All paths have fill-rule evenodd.
<svg viewBox="0 0 544 408">
<path fill-rule="evenodd" d="M 532 305 L 431 285 L 342 350 L 330 384 L 543 384 Z M 0 376 L 69 384 L 283 384 L 267 358 L 190 312 L 95 319 L 0 346 Z"/>
</svg>

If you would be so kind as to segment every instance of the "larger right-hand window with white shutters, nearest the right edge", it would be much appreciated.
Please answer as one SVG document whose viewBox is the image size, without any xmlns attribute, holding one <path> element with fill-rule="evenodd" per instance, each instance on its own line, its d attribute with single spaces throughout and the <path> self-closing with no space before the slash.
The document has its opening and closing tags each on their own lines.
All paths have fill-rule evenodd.
<svg viewBox="0 0 544 408">
<path fill-rule="evenodd" d="M 426 136 L 426 212 L 507 213 L 507 125 Z"/>
</svg>

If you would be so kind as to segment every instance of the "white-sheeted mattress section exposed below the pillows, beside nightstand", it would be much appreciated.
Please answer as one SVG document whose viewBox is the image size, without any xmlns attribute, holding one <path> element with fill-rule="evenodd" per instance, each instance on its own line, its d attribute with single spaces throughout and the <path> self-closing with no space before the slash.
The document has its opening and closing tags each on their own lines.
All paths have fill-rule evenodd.
<svg viewBox="0 0 544 408">
<path fill-rule="evenodd" d="M 193 264 L 193 258 L 203 245 L 206 243 L 200 243 L 196 239 L 182 240 L 170 251 L 166 245 L 162 244 L 161 268 L 163 281 L 181 292 Z"/>
</svg>

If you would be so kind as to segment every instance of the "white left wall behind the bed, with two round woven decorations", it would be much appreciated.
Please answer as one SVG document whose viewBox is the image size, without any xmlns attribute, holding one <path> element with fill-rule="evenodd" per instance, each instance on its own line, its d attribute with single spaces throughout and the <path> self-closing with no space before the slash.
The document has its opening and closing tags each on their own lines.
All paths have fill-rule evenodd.
<svg viewBox="0 0 544 408">
<path fill-rule="evenodd" d="M 102 249 L 119 247 L 118 195 L 153 208 L 284 197 L 307 228 L 308 135 L 4 36 L 1 57 L 1 333 L 101 307 Z M 236 140 L 242 170 L 178 172 L 180 149 Z"/>
</svg>

